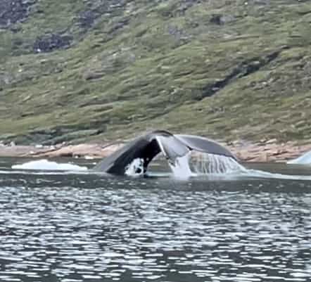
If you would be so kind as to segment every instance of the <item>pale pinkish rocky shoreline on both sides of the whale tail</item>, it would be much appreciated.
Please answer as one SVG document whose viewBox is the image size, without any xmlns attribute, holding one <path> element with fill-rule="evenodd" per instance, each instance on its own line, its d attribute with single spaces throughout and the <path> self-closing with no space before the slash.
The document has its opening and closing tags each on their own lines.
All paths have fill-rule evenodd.
<svg viewBox="0 0 311 282">
<path fill-rule="evenodd" d="M 11 146 L 0 144 L 0 157 L 25 158 L 105 158 L 124 143 L 81 143 L 78 145 L 58 144 L 55 146 Z M 298 145 L 294 141 L 277 143 L 274 140 L 250 143 L 234 141 L 221 143 L 231 150 L 242 162 L 286 162 L 311 150 L 310 145 Z"/>
</svg>

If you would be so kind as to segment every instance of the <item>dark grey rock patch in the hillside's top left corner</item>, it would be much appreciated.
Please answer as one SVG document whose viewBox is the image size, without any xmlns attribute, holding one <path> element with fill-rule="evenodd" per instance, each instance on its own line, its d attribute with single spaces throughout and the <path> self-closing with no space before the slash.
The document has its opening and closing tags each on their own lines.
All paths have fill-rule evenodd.
<svg viewBox="0 0 311 282">
<path fill-rule="evenodd" d="M 36 0 L 1 0 L 0 26 L 9 27 L 25 20 Z"/>
</svg>

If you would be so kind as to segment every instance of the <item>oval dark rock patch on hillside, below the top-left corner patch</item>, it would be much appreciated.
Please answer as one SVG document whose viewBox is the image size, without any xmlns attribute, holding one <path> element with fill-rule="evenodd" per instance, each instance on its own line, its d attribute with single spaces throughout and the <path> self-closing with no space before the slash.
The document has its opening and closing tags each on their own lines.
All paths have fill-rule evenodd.
<svg viewBox="0 0 311 282">
<path fill-rule="evenodd" d="M 51 52 L 57 49 L 66 49 L 70 47 L 72 37 L 61 34 L 47 34 L 43 37 L 38 37 L 34 42 L 34 52 Z"/>
</svg>

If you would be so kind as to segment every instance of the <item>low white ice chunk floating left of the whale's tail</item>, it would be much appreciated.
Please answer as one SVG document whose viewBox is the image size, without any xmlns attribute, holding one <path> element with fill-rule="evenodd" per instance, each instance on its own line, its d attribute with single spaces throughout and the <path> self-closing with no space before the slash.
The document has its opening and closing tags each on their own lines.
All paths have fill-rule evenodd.
<svg viewBox="0 0 311 282">
<path fill-rule="evenodd" d="M 12 169 L 85 171 L 87 167 L 80 167 L 80 165 L 70 163 L 61 164 L 49 160 L 32 160 L 22 165 L 12 165 Z"/>
</svg>

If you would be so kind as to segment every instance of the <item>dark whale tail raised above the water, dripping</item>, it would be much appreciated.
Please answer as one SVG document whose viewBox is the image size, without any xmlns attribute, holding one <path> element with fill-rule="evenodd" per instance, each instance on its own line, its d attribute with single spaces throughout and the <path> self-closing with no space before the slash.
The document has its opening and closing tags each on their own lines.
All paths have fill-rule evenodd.
<svg viewBox="0 0 311 282">
<path fill-rule="evenodd" d="M 126 173 L 127 167 L 135 159 L 141 159 L 143 160 L 145 173 L 151 160 L 159 153 L 162 152 L 165 158 L 173 165 L 177 158 L 186 155 L 190 150 L 224 155 L 236 160 L 229 150 L 210 139 L 156 130 L 130 141 L 120 150 L 104 158 L 94 169 L 110 174 L 123 175 Z"/>
</svg>

